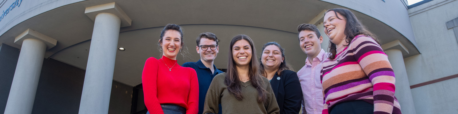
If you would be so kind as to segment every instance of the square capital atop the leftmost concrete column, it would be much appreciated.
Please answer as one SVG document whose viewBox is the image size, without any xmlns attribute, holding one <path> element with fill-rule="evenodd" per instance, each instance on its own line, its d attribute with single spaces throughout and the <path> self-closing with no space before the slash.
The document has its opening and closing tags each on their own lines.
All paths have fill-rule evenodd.
<svg viewBox="0 0 458 114">
<path fill-rule="evenodd" d="M 45 44 L 46 44 L 46 50 L 49 50 L 53 47 L 56 46 L 57 44 L 57 40 L 49 37 L 49 36 L 46 36 L 44 34 L 41 34 L 40 32 L 38 31 L 34 31 L 32 29 L 27 29 L 26 31 L 22 32 L 22 34 L 20 34 L 19 36 L 16 36 L 16 38 L 14 39 L 14 43 L 16 44 L 19 44 L 22 46 L 22 42 L 25 40 L 25 39 L 37 39 L 39 41 L 43 41 Z"/>
</svg>

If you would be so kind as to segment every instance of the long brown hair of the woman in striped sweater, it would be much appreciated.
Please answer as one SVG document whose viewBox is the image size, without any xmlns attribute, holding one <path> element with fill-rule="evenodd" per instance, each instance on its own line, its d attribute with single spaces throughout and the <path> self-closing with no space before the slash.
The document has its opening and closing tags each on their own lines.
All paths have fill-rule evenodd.
<svg viewBox="0 0 458 114">
<path fill-rule="evenodd" d="M 347 42 L 347 45 L 344 45 L 344 46 L 350 45 L 350 42 L 353 40 L 353 38 L 361 34 L 372 37 L 372 39 L 374 39 L 378 43 L 378 45 L 382 45 L 382 43 L 380 43 L 380 41 L 378 40 L 377 36 L 375 36 L 375 34 L 373 34 L 371 31 L 367 30 L 366 26 L 364 26 L 360 22 L 360 20 L 358 20 L 358 18 L 354 16 L 353 12 L 351 12 L 350 10 L 343 9 L 343 8 L 335 8 L 335 9 L 327 10 L 326 13 L 329 11 L 334 11 L 338 19 L 347 21 L 345 24 L 345 30 L 344 30 L 345 41 Z M 344 16 L 344 19 L 341 19 L 337 15 L 337 13 Z M 336 44 L 334 44 L 331 41 L 329 41 L 329 51 L 328 52 L 331 53 L 329 54 L 329 57 L 328 57 L 329 59 L 336 58 L 337 46 Z"/>
</svg>

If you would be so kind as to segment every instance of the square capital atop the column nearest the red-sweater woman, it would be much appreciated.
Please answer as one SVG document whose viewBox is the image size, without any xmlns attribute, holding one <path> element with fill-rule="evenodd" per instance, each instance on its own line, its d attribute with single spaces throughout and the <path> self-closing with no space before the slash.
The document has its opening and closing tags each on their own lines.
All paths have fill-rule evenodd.
<svg viewBox="0 0 458 114">
<path fill-rule="evenodd" d="M 84 14 L 91 18 L 92 21 L 95 21 L 95 16 L 99 13 L 111 13 L 118 16 L 121 20 L 121 27 L 132 25 L 131 18 L 114 2 L 87 7 L 84 11 Z"/>
</svg>

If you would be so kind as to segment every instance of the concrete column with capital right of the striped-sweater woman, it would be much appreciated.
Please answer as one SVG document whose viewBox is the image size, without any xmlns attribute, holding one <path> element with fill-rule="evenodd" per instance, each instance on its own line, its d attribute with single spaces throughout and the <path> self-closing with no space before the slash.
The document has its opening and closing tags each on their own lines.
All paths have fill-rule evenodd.
<svg viewBox="0 0 458 114">
<path fill-rule="evenodd" d="M 382 48 L 388 56 L 396 77 L 396 91 L 394 95 L 398 98 L 401 105 L 401 112 L 403 114 L 416 114 L 403 58 L 403 55 L 409 54 L 409 51 L 398 40 L 384 44 Z"/>
</svg>

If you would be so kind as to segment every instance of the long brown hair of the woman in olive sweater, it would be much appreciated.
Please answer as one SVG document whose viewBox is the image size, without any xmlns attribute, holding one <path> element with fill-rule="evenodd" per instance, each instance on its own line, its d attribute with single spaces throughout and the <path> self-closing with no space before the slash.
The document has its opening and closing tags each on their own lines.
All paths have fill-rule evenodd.
<svg viewBox="0 0 458 114">
<path fill-rule="evenodd" d="M 253 45 L 253 41 L 251 40 L 250 37 L 246 35 L 237 35 L 232 38 L 232 41 L 230 41 L 230 47 L 229 47 L 229 62 L 228 62 L 228 69 L 227 69 L 227 76 L 224 79 L 224 84 L 226 84 L 229 93 L 234 94 L 235 98 L 237 100 L 242 100 L 243 95 L 242 95 L 242 90 L 240 86 L 240 78 L 239 74 L 235 68 L 235 62 L 234 58 L 232 57 L 232 47 L 234 46 L 235 42 L 240 41 L 240 40 L 245 40 L 248 41 L 248 43 L 251 46 L 251 60 L 250 60 L 250 69 L 249 69 L 249 74 L 248 76 L 250 77 L 251 85 L 256 88 L 258 92 L 258 102 L 260 103 L 265 103 L 267 100 L 267 94 L 268 92 L 263 88 L 264 86 L 264 81 L 262 80 L 262 76 L 259 73 L 259 63 L 257 61 L 256 57 L 256 49 L 255 46 Z"/>
</svg>

